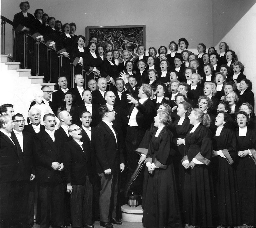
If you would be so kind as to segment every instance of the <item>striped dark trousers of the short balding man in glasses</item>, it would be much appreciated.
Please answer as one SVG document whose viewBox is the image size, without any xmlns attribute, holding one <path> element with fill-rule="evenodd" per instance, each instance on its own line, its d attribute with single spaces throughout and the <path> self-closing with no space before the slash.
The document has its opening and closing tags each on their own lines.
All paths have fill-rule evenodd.
<svg viewBox="0 0 256 228">
<path fill-rule="evenodd" d="M 82 227 L 92 223 L 92 184 L 88 175 L 84 184 L 72 185 L 70 195 L 72 226 Z"/>
</svg>

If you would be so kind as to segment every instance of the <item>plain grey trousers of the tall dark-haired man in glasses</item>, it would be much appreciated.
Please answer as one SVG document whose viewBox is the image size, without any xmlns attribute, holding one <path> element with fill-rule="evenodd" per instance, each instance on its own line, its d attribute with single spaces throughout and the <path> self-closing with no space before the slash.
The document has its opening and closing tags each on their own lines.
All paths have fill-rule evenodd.
<svg viewBox="0 0 256 228">
<path fill-rule="evenodd" d="M 110 218 L 116 218 L 116 200 L 117 200 L 117 171 L 111 174 L 99 174 L 100 188 L 100 220 L 109 222 Z"/>
</svg>

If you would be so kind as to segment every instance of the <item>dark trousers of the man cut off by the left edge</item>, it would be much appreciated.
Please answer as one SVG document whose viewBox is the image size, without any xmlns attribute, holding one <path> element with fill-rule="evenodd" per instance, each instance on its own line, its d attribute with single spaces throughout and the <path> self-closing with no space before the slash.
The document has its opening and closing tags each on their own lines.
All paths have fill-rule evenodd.
<svg viewBox="0 0 256 228">
<path fill-rule="evenodd" d="M 5 182 L 1 183 L 0 187 L 0 226 L 9 227 L 13 225 L 11 224 L 11 218 L 13 218 L 12 209 L 18 192 L 18 183 L 17 181 Z"/>
</svg>

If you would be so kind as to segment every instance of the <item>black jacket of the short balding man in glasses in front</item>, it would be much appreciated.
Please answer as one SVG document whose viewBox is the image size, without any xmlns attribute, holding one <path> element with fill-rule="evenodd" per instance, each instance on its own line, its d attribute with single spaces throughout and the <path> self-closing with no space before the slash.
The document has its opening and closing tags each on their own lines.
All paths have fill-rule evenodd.
<svg viewBox="0 0 256 228">
<path fill-rule="evenodd" d="M 84 184 L 87 169 L 90 169 L 90 145 L 83 143 L 82 148 L 72 139 L 64 144 L 64 173 L 66 184 Z"/>
</svg>

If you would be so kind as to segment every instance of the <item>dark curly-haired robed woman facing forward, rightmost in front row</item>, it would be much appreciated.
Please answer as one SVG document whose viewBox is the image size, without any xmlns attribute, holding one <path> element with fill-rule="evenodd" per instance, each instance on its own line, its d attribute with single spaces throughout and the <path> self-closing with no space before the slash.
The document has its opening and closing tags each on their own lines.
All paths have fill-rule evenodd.
<svg viewBox="0 0 256 228">
<path fill-rule="evenodd" d="M 239 128 L 236 131 L 237 151 L 236 160 L 237 184 L 241 206 L 242 224 L 253 225 L 255 197 L 255 159 L 256 135 L 247 128 L 249 115 L 244 111 L 236 113 Z"/>
</svg>

